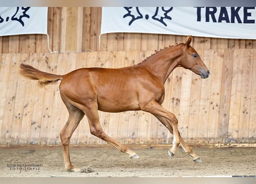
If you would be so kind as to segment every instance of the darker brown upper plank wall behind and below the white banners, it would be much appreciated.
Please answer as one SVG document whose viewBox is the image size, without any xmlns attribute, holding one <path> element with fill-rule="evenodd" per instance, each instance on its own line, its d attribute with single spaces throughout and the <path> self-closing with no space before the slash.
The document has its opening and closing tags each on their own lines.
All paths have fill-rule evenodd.
<svg viewBox="0 0 256 184">
<path fill-rule="evenodd" d="M 185 36 L 140 33 L 103 34 L 101 7 L 49 7 L 49 47 L 58 52 L 154 51 L 176 43 Z M 100 43 L 100 45 L 99 45 Z M 256 40 L 194 37 L 197 49 L 256 48 Z M 0 37 L 0 53 L 47 53 L 47 36 L 29 34 Z"/>
</svg>

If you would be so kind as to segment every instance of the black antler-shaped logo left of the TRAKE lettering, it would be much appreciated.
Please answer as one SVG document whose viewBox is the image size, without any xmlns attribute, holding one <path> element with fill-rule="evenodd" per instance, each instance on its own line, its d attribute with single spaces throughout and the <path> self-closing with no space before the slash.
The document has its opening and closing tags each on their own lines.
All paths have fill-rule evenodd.
<svg viewBox="0 0 256 184">
<path fill-rule="evenodd" d="M 173 10 L 173 7 L 156 7 L 154 15 L 144 15 L 140 12 L 139 7 L 124 7 L 125 10 L 128 11 L 127 14 L 123 16 L 123 18 L 131 17 L 131 21 L 129 21 L 129 25 L 132 25 L 132 23 L 136 20 L 145 18 L 148 20 L 150 17 L 152 20 L 161 22 L 161 24 L 167 26 L 165 20 L 171 20 L 171 17 L 169 15 L 170 11 Z"/>
</svg>

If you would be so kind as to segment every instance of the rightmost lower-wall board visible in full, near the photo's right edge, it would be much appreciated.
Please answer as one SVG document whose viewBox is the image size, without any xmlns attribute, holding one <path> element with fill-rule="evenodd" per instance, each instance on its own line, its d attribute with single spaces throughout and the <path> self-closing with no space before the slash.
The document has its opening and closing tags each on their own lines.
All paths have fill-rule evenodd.
<svg viewBox="0 0 256 184">
<path fill-rule="evenodd" d="M 251 103 L 251 85 L 253 77 L 253 52 L 250 49 L 244 49 L 243 72 L 242 72 L 242 90 L 240 100 L 238 138 L 243 142 L 249 135 L 249 118 L 250 118 L 250 103 Z M 255 95 L 255 94 L 253 94 Z"/>
</svg>

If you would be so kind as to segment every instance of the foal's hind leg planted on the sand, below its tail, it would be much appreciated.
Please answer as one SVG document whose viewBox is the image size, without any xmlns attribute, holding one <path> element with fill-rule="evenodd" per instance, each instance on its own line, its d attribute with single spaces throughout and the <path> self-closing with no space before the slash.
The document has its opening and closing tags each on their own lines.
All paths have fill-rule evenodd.
<svg viewBox="0 0 256 184">
<path fill-rule="evenodd" d="M 60 132 L 60 140 L 62 141 L 62 148 L 63 148 L 63 157 L 64 157 L 64 164 L 67 171 L 74 171 L 78 172 L 81 171 L 80 168 L 74 167 L 70 161 L 70 151 L 68 144 L 70 142 L 70 138 L 77 128 L 79 122 L 82 120 L 83 116 L 85 115 L 82 110 L 72 106 L 71 104 L 67 105 L 69 117 L 64 125 L 62 131 Z"/>
</svg>

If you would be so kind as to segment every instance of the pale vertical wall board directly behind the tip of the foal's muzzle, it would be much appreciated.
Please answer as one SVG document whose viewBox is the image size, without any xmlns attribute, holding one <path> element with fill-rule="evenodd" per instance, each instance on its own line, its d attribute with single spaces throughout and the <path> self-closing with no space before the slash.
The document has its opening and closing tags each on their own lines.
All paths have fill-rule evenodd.
<svg viewBox="0 0 256 184">
<path fill-rule="evenodd" d="M 205 50 L 204 56 L 201 57 L 202 61 L 205 63 L 207 68 L 212 72 L 213 63 L 215 63 L 215 53 L 211 50 Z M 212 84 L 212 74 L 208 79 L 202 79 L 201 82 L 201 95 L 200 95 L 200 110 L 199 110 L 199 120 L 197 124 L 197 137 L 202 139 L 207 137 L 208 132 L 208 121 L 209 117 L 209 104 L 211 97 L 211 84 Z M 212 122 L 209 122 L 212 123 Z"/>
</svg>

